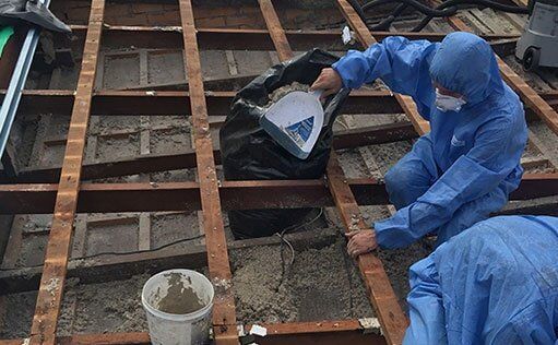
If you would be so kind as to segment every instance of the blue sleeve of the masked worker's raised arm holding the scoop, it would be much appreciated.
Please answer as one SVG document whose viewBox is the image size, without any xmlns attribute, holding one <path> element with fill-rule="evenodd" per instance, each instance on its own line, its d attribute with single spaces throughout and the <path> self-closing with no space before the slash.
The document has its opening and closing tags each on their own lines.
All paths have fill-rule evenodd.
<svg viewBox="0 0 558 345">
<path fill-rule="evenodd" d="M 349 50 L 333 69 L 340 73 L 345 87 L 358 88 L 379 78 L 393 92 L 428 105 L 430 99 L 422 98 L 431 96 L 428 69 L 437 45 L 391 36 L 365 51 Z"/>
</svg>

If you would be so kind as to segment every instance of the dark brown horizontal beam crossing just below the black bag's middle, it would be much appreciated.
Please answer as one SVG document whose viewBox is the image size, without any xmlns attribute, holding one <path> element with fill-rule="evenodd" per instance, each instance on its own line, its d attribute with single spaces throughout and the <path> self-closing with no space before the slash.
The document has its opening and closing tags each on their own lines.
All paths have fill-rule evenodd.
<svg viewBox="0 0 558 345">
<path fill-rule="evenodd" d="M 387 204 L 383 183 L 348 179 L 360 205 Z M 0 185 L 0 214 L 52 213 L 58 185 Z M 323 180 L 222 181 L 223 209 L 292 209 L 334 205 Z M 511 200 L 558 195 L 558 174 L 525 174 Z M 107 203 L 106 200 L 111 202 Z M 82 183 L 78 212 L 200 210 L 197 182 Z"/>
</svg>

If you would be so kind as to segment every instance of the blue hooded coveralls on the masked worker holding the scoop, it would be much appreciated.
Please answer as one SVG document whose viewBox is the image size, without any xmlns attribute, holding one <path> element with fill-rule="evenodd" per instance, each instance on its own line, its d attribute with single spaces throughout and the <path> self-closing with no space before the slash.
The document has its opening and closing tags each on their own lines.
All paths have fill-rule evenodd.
<svg viewBox="0 0 558 345">
<path fill-rule="evenodd" d="M 438 245 L 500 210 L 520 183 L 527 130 L 523 106 L 503 83 L 490 46 L 468 33 L 441 44 L 388 37 L 333 64 L 345 87 L 381 79 L 413 97 L 431 131 L 385 175 L 397 212 L 377 222 L 378 243 L 401 248 L 429 233 Z M 435 106 L 432 80 L 467 102 L 461 111 Z"/>
</svg>

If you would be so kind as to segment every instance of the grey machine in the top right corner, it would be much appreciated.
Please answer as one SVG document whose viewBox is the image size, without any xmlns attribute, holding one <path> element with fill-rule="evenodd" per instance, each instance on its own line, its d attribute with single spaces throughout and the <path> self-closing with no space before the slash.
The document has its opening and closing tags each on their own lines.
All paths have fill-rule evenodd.
<svg viewBox="0 0 558 345">
<path fill-rule="evenodd" d="M 529 1 L 529 22 L 518 41 L 515 57 L 527 71 L 558 68 L 558 0 Z"/>
</svg>

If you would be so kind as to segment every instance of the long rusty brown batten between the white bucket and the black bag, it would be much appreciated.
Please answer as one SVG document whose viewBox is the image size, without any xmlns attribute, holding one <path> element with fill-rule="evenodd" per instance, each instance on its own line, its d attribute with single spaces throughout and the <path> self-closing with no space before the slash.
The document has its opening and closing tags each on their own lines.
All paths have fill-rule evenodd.
<svg viewBox="0 0 558 345">
<path fill-rule="evenodd" d="M 179 3 L 186 51 L 186 70 L 190 85 L 190 106 L 198 178 L 200 180 L 203 228 L 207 247 L 207 265 L 212 282 L 216 286 L 213 307 L 215 338 L 217 344 L 237 344 L 235 299 L 230 287 L 233 273 L 228 261 L 227 241 L 221 211 L 193 9 L 191 0 L 180 0 Z"/>
</svg>

